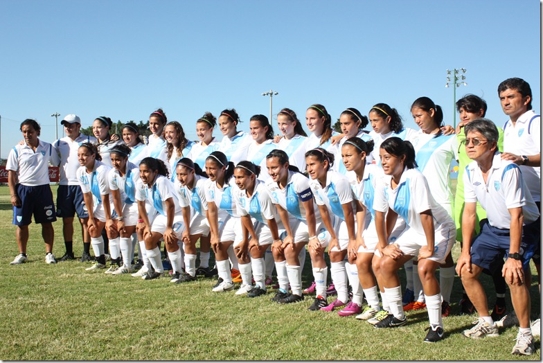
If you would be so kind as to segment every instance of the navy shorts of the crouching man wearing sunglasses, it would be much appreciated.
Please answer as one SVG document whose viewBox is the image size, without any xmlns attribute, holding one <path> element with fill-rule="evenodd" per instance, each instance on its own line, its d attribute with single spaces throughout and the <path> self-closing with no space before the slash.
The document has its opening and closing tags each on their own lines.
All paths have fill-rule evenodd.
<svg viewBox="0 0 543 363">
<path fill-rule="evenodd" d="M 540 245 L 540 220 L 522 227 L 522 240 L 519 254 L 522 256 L 522 265 L 526 269 L 535 249 Z M 504 257 L 509 255 L 509 230 L 492 227 L 488 222 L 481 227 L 481 233 L 475 238 L 470 251 L 472 264 L 488 269 L 494 274 Z"/>
</svg>

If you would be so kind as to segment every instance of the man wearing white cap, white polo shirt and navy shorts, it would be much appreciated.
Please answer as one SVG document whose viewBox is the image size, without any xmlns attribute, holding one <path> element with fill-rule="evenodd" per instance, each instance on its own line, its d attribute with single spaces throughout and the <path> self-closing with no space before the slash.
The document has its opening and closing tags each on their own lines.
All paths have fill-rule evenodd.
<svg viewBox="0 0 543 363">
<path fill-rule="evenodd" d="M 64 126 L 66 136 L 53 143 L 60 157 L 60 181 L 57 190 L 57 217 L 62 218 L 62 234 L 66 253 L 59 261 L 74 260 L 73 256 L 73 217 L 78 213 L 83 238 L 83 254 L 81 262 L 90 261 L 91 237 L 87 229 L 89 213 L 83 201 L 83 193 L 79 186 L 77 171 L 80 167 L 78 149 L 82 143 L 94 143 L 94 136 L 82 135 L 81 120 L 74 114 L 66 115 L 60 123 Z"/>
</svg>

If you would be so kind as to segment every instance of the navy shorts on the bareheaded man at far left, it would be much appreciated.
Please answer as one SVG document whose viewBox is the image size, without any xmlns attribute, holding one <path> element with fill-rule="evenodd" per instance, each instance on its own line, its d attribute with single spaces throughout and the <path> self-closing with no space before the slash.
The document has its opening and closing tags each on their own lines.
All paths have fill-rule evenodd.
<svg viewBox="0 0 543 363">
<path fill-rule="evenodd" d="M 17 185 L 17 195 L 21 206 L 13 207 L 13 224 L 28 226 L 32 223 L 32 215 L 36 223 L 51 223 L 57 220 L 53 193 L 49 184 L 40 186 Z"/>
</svg>

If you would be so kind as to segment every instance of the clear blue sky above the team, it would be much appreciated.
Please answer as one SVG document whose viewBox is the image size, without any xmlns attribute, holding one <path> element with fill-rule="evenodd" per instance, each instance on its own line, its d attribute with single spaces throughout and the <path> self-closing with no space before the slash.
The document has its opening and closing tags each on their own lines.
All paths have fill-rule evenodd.
<svg viewBox="0 0 543 363">
<path fill-rule="evenodd" d="M 269 89 L 279 92 L 274 125 L 281 107 L 305 120 L 321 103 L 335 120 L 384 102 L 416 128 L 409 109 L 420 96 L 452 125 L 446 69 L 461 67 L 468 86 L 456 98 L 482 96 L 503 125 L 506 78 L 528 81 L 541 109 L 540 12 L 535 0 L 1 0 L 1 157 L 25 118 L 54 141 L 54 112 L 87 127 L 97 116 L 146 121 L 162 107 L 195 139 L 204 112 L 234 107 L 248 130 L 250 116 L 269 115 Z"/>
</svg>

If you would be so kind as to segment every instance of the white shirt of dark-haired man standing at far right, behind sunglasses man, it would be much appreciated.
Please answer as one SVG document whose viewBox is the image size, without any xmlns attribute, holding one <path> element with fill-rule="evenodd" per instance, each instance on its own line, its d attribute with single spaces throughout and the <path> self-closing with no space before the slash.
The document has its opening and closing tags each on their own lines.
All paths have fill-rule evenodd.
<svg viewBox="0 0 543 363">
<path fill-rule="evenodd" d="M 536 155 L 541 153 L 541 116 L 529 110 L 522 114 L 515 125 L 509 120 L 504 125 L 504 152 L 515 155 Z M 541 201 L 540 166 L 521 165 L 520 170 L 533 200 Z"/>
</svg>

